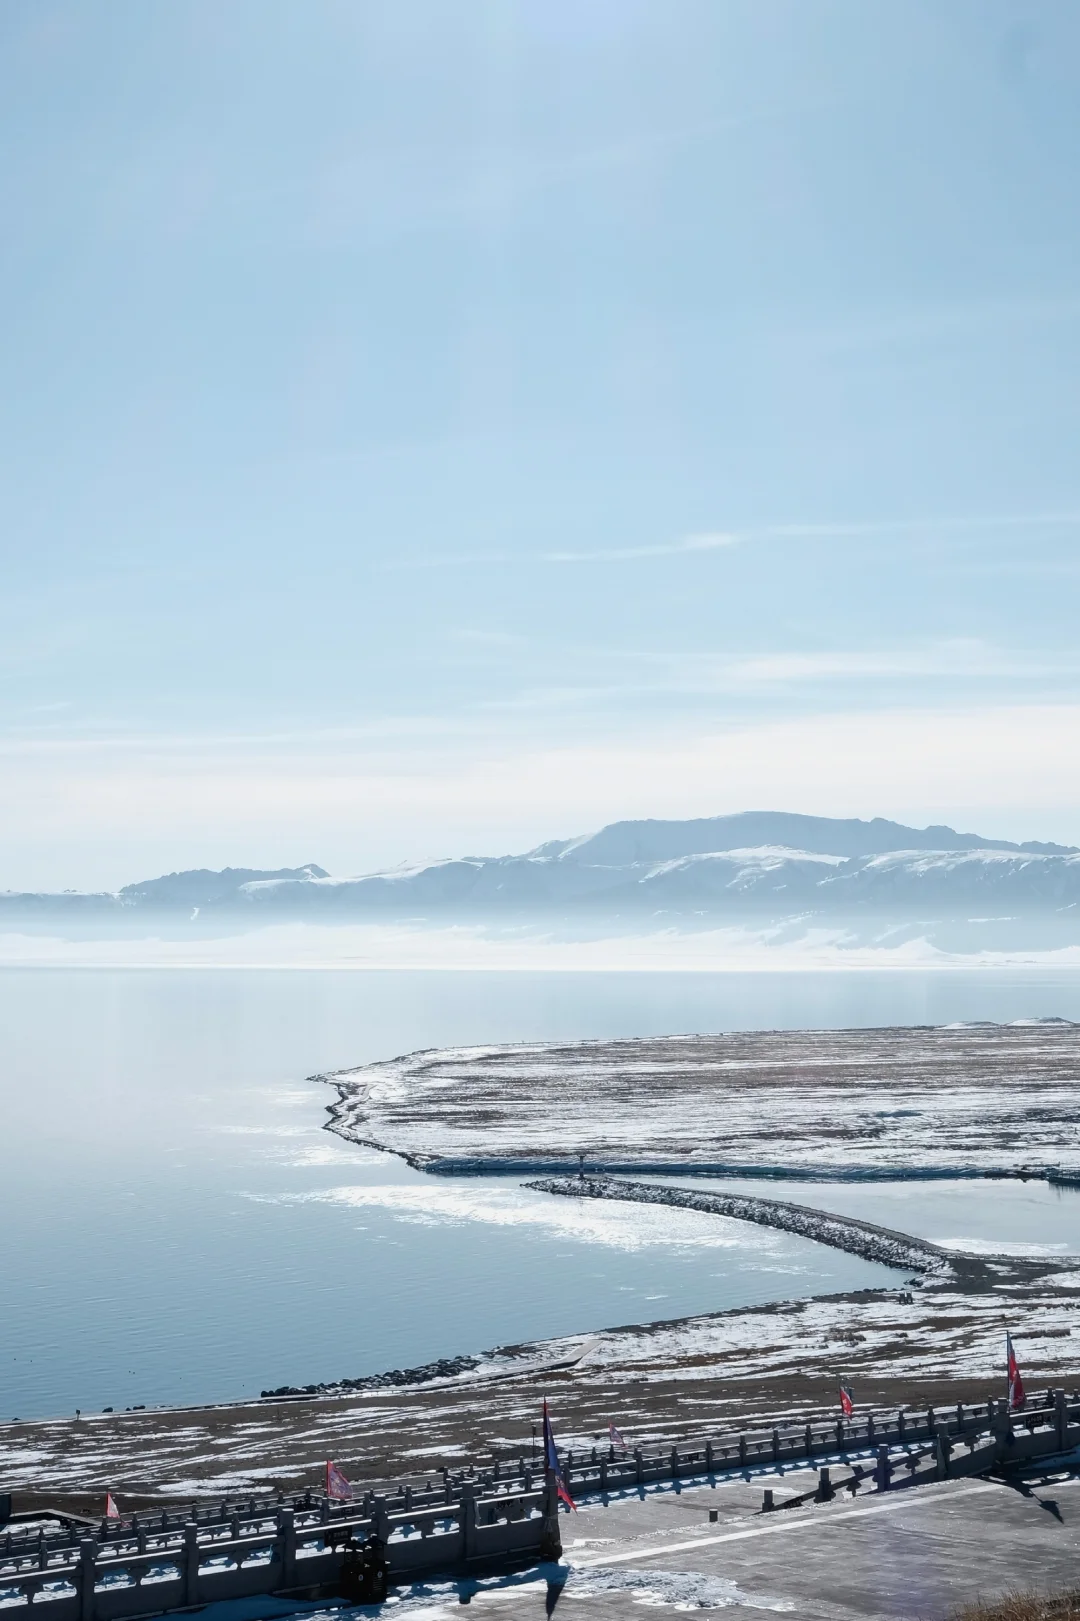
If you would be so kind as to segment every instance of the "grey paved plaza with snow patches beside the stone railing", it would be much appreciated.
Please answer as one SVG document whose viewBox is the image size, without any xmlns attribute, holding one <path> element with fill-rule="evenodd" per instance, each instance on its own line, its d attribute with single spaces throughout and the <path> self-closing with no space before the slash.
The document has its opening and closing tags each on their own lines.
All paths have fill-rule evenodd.
<svg viewBox="0 0 1080 1621">
<path fill-rule="evenodd" d="M 814 1475 L 649 1490 L 563 1517 L 564 1559 L 483 1582 L 431 1584 L 383 1611 L 608 1621 L 749 1608 L 808 1621 L 936 1621 L 1010 1589 L 1080 1585 L 1080 1482 L 960 1480 L 762 1514 Z M 717 1520 L 710 1520 L 715 1511 Z"/>
</svg>

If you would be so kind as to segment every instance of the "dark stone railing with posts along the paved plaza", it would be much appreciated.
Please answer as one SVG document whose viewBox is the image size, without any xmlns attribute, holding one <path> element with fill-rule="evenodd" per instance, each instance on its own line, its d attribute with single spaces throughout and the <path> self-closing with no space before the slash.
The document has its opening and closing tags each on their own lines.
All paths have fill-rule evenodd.
<svg viewBox="0 0 1080 1621">
<path fill-rule="evenodd" d="M 1023 1414 L 1004 1402 L 858 1418 L 812 1420 L 660 1449 L 568 1454 L 576 1498 L 641 1493 L 647 1486 L 770 1473 L 785 1467 L 872 1457 L 851 1485 L 877 1490 L 913 1480 L 986 1473 L 1080 1448 L 1080 1392 L 1048 1391 Z M 923 1467 L 923 1465 L 929 1467 Z M 341 1579 L 342 1546 L 376 1537 L 391 1580 L 527 1563 L 551 1551 L 555 1501 L 524 1459 L 490 1470 L 444 1473 L 441 1483 L 368 1491 L 358 1503 L 321 1493 L 248 1498 L 139 1512 L 125 1522 L 71 1524 L 57 1533 L 13 1527 L 0 1538 L 0 1605 L 34 1621 L 126 1621 L 256 1593 L 321 1597 Z M 546 1535 L 545 1535 L 546 1529 Z M 558 1545 L 558 1535 L 555 1537 Z"/>
</svg>

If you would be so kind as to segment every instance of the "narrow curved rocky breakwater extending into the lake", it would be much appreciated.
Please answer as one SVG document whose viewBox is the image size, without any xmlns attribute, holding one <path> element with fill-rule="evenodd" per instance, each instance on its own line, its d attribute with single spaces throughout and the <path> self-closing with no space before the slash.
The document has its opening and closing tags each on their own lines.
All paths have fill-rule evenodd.
<svg viewBox="0 0 1080 1621">
<path fill-rule="evenodd" d="M 890 1227 L 809 1209 L 806 1204 L 788 1204 L 785 1200 L 762 1200 L 746 1193 L 699 1193 L 696 1188 L 626 1182 L 619 1177 L 546 1177 L 527 1185 L 537 1193 L 558 1193 L 564 1198 L 673 1204 L 676 1209 L 752 1221 L 759 1227 L 778 1227 L 782 1232 L 827 1243 L 834 1250 L 859 1255 L 864 1261 L 879 1261 L 882 1266 L 941 1282 L 983 1284 L 988 1271 L 981 1256 L 954 1255 L 936 1243 L 894 1232 Z"/>
</svg>

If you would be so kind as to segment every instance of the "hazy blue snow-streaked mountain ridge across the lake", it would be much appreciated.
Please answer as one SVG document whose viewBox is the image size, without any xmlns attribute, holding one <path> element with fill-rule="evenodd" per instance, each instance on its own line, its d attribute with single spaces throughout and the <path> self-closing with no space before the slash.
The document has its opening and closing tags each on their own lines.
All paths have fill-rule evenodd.
<svg viewBox="0 0 1080 1621">
<path fill-rule="evenodd" d="M 0 895 L 0 919 L 245 917 L 337 922 L 589 913 L 688 917 L 1070 917 L 1080 849 L 950 827 L 783 810 L 611 822 L 519 856 L 467 856 L 354 879 L 308 862 L 172 872 L 115 895 Z"/>
</svg>

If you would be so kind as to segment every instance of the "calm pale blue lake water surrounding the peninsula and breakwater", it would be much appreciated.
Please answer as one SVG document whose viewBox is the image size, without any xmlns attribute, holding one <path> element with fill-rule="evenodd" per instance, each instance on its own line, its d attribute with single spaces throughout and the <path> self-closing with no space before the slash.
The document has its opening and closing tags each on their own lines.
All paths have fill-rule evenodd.
<svg viewBox="0 0 1080 1621">
<path fill-rule="evenodd" d="M 1080 1015 L 1072 976 L 2 971 L 0 1414 L 232 1399 L 892 1277 L 691 1213 L 422 1177 L 323 1131 L 313 1071 L 465 1042 L 1044 1015 Z M 1072 1248 L 1054 1222 L 1080 1200 L 1031 1214 L 988 1187 L 919 1187 L 894 1217 L 895 1188 L 759 1191 Z"/>
</svg>

